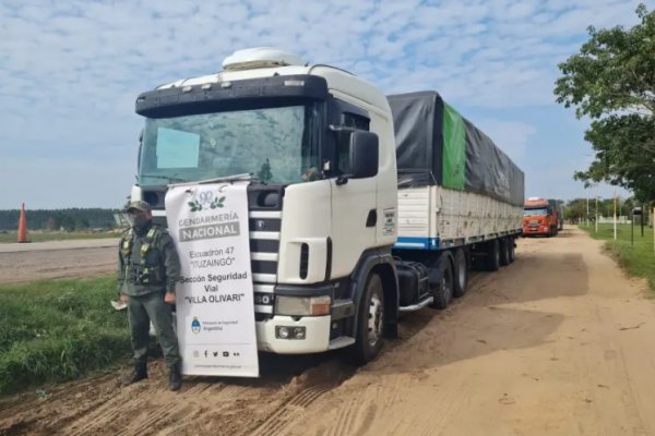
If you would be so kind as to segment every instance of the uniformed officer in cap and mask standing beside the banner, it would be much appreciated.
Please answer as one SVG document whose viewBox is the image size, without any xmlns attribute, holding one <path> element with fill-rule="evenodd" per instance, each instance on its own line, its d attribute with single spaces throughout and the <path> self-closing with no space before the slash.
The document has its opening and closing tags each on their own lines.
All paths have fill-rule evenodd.
<svg viewBox="0 0 655 436">
<path fill-rule="evenodd" d="M 128 304 L 128 320 L 134 371 L 126 378 L 131 385 L 147 378 L 147 347 L 152 322 L 169 370 L 168 387 L 181 387 L 181 358 L 172 328 L 171 304 L 180 276 L 180 261 L 168 232 L 153 223 L 151 205 L 128 206 L 132 227 L 122 234 L 118 252 L 118 291 Z"/>
</svg>

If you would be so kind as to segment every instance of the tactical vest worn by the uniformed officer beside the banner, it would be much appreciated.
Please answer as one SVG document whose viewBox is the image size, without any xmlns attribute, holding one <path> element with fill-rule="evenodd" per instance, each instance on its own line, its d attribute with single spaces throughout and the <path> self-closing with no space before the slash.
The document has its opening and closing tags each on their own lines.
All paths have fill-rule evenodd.
<svg viewBox="0 0 655 436">
<path fill-rule="evenodd" d="M 159 242 L 162 230 L 158 226 L 153 226 L 144 237 L 140 237 L 141 250 L 139 251 L 139 262 L 132 261 L 132 247 L 134 245 L 134 230 L 130 228 L 123 233 L 120 241 L 120 251 L 126 263 L 126 281 L 132 284 L 162 284 L 164 283 L 164 271 L 162 259 L 156 265 L 148 265 L 147 254 L 153 245 Z M 139 238 L 139 237 L 138 237 Z"/>
</svg>

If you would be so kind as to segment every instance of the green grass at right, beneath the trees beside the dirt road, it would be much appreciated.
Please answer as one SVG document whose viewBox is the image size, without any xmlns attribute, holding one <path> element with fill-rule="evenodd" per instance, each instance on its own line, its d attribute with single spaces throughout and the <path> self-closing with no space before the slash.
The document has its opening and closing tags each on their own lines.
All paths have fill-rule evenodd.
<svg viewBox="0 0 655 436">
<path fill-rule="evenodd" d="M 617 240 L 614 240 L 612 225 L 598 225 L 598 231 L 594 226 L 580 226 L 594 239 L 605 240 L 606 250 L 617 259 L 619 265 L 630 276 L 643 277 L 648 281 L 652 291 L 655 291 L 655 251 L 653 251 L 653 229 L 644 227 L 644 235 L 641 235 L 641 227 L 634 226 L 634 244 L 630 240 L 630 225 L 617 226 Z"/>
</svg>

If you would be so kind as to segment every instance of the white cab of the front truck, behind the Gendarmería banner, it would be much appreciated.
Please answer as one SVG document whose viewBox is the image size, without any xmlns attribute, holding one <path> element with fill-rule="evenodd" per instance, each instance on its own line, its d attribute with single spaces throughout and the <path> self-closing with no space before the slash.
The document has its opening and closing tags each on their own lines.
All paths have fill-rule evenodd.
<svg viewBox="0 0 655 436">
<path fill-rule="evenodd" d="M 385 96 L 346 71 L 271 48 L 141 94 L 132 199 L 166 226 L 167 185 L 248 173 L 258 348 L 354 346 L 395 332 L 396 165 Z"/>
</svg>

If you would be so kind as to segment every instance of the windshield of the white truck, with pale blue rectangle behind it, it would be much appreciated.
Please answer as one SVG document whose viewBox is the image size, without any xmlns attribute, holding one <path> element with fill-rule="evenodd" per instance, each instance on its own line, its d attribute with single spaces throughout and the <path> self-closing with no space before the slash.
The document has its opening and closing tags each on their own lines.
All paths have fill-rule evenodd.
<svg viewBox="0 0 655 436">
<path fill-rule="evenodd" d="M 142 186 L 250 173 L 262 183 L 309 181 L 319 168 L 318 104 L 146 119 Z"/>
</svg>

